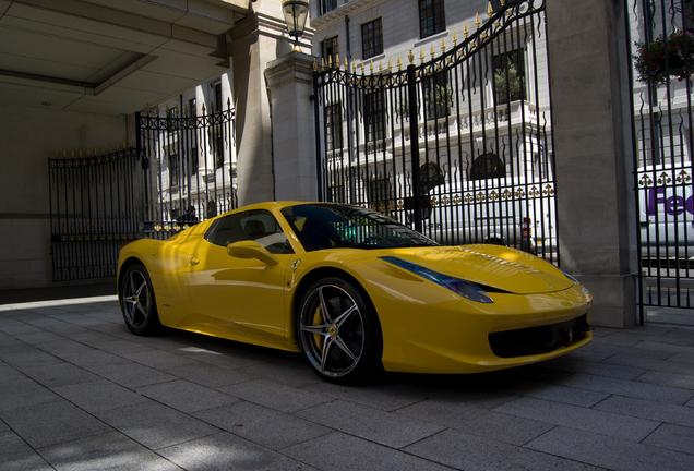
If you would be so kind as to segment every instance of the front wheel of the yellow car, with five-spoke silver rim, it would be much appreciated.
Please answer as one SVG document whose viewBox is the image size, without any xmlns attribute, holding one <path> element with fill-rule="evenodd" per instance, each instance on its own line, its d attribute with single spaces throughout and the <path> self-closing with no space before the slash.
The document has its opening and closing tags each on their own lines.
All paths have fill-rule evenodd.
<svg viewBox="0 0 694 471">
<path fill-rule="evenodd" d="M 306 361 L 323 379 L 355 384 L 383 371 L 378 315 L 362 291 L 345 279 L 311 285 L 301 298 L 296 328 Z"/>
</svg>

